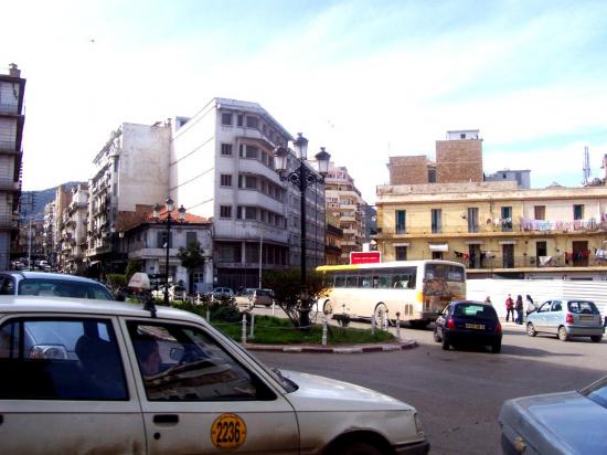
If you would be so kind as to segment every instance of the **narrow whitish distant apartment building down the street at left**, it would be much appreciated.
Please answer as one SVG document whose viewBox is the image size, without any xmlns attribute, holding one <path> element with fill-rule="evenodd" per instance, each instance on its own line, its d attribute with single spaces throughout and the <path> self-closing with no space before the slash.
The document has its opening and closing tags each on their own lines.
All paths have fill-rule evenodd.
<svg viewBox="0 0 607 455">
<path fill-rule="evenodd" d="M 83 274 L 88 267 L 87 252 L 88 226 L 88 186 L 78 184 L 72 188 L 71 202 L 61 213 L 61 251 L 62 271 L 70 274 Z"/>
</svg>

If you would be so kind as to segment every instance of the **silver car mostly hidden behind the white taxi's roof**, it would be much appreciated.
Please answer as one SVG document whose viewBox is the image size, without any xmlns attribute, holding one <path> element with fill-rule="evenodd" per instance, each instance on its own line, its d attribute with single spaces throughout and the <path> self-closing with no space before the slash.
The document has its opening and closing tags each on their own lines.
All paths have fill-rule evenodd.
<svg viewBox="0 0 607 455">
<path fill-rule="evenodd" d="M 107 287 L 90 278 L 25 271 L 0 272 L 0 295 L 115 299 Z"/>
</svg>

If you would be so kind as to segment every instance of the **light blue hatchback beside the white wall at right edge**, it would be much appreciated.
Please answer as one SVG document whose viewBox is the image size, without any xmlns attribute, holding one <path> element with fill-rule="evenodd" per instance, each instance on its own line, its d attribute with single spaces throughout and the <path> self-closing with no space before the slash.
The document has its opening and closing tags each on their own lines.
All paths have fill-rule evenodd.
<svg viewBox="0 0 607 455">
<path fill-rule="evenodd" d="M 590 337 L 600 342 L 605 327 L 600 311 L 590 300 L 554 298 L 544 301 L 526 319 L 526 335 L 553 334 L 561 341 L 571 337 Z"/>
</svg>

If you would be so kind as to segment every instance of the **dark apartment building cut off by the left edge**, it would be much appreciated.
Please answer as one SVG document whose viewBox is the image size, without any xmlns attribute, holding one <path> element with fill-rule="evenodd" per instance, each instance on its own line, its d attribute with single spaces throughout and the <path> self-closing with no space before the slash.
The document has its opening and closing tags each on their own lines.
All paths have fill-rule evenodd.
<svg viewBox="0 0 607 455">
<path fill-rule="evenodd" d="M 25 80 L 12 63 L 9 74 L 0 74 L 0 269 L 9 268 L 19 234 L 24 92 Z"/>
</svg>

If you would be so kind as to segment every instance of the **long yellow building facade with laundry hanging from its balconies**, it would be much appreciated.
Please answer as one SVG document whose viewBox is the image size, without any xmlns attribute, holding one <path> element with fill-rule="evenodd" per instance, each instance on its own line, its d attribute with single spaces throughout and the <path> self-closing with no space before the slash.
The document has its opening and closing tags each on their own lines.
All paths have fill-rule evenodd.
<svg viewBox="0 0 607 455">
<path fill-rule="evenodd" d="M 607 187 L 383 186 L 376 209 L 385 261 L 457 261 L 470 278 L 607 279 Z"/>
</svg>

